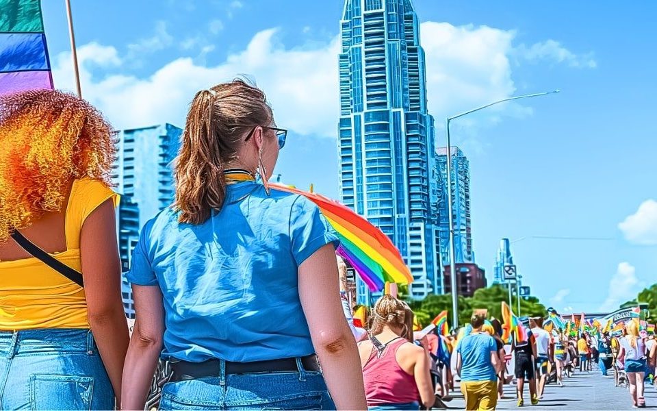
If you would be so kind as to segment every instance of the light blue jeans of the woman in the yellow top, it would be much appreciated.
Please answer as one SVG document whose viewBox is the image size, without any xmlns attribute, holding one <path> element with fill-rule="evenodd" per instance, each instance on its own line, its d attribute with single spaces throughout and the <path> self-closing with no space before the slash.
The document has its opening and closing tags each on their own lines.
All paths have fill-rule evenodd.
<svg viewBox="0 0 657 411">
<path fill-rule="evenodd" d="M 114 390 L 91 331 L 0 331 L 0 409 L 114 409 Z"/>
</svg>

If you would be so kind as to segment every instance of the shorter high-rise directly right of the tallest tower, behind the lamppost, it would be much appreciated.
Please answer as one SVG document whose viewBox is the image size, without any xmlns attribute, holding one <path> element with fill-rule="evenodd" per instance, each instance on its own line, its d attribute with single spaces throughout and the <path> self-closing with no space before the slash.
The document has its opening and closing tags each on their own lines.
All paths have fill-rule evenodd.
<svg viewBox="0 0 657 411">
<path fill-rule="evenodd" d="M 447 148 L 438 149 L 438 168 L 447 184 Z M 446 187 L 446 186 L 445 186 Z M 447 195 L 447 190 L 443 190 Z M 440 203 L 440 240 L 443 262 L 449 264 L 450 223 L 447 197 Z M 474 262 L 472 251 L 472 225 L 470 221 L 470 170 L 469 162 L 459 147 L 452 146 L 452 215 L 454 224 L 454 262 Z"/>
</svg>

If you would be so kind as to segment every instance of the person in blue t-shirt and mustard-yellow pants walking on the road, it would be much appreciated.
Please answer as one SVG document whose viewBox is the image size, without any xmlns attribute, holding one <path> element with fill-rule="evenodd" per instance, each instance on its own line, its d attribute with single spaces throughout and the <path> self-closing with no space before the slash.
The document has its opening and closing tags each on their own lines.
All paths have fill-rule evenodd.
<svg viewBox="0 0 657 411">
<path fill-rule="evenodd" d="M 456 345 L 456 371 L 461 376 L 461 393 L 466 410 L 494 410 L 498 403 L 497 375 L 502 372 L 493 337 L 481 331 L 484 316 L 470 319 L 472 333 Z"/>
</svg>

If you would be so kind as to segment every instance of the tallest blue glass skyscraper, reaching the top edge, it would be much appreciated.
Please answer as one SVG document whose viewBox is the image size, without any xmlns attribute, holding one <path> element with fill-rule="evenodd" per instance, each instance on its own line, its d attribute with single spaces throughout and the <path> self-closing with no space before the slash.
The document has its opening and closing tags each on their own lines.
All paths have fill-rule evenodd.
<svg viewBox="0 0 657 411">
<path fill-rule="evenodd" d="M 342 201 L 398 247 L 411 297 L 441 293 L 441 176 L 417 14 L 410 0 L 346 0 L 340 25 Z M 357 293 L 370 299 L 361 281 Z"/>
</svg>

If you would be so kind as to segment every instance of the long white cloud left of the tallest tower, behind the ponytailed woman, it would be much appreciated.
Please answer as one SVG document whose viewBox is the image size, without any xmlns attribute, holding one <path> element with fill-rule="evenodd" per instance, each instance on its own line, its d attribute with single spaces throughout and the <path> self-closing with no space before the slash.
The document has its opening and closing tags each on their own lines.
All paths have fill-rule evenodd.
<svg viewBox="0 0 657 411">
<path fill-rule="evenodd" d="M 197 90 L 247 74 L 266 90 L 279 124 L 300 134 L 333 136 L 338 117 L 338 47 L 335 40 L 314 48 L 286 49 L 276 41 L 276 29 L 268 29 L 256 34 L 246 50 L 229 55 L 218 66 L 178 58 L 147 78 L 112 74 L 98 79 L 92 76 L 92 65 L 109 62 L 115 66 L 120 62 L 118 53 L 114 47 L 84 45 L 79 48 L 83 96 L 117 128 L 165 121 L 182 126 Z M 110 61 L 112 56 L 116 61 Z M 62 53 L 55 59 L 57 88 L 74 89 L 69 58 L 70 53 Z"/>
</svg>

